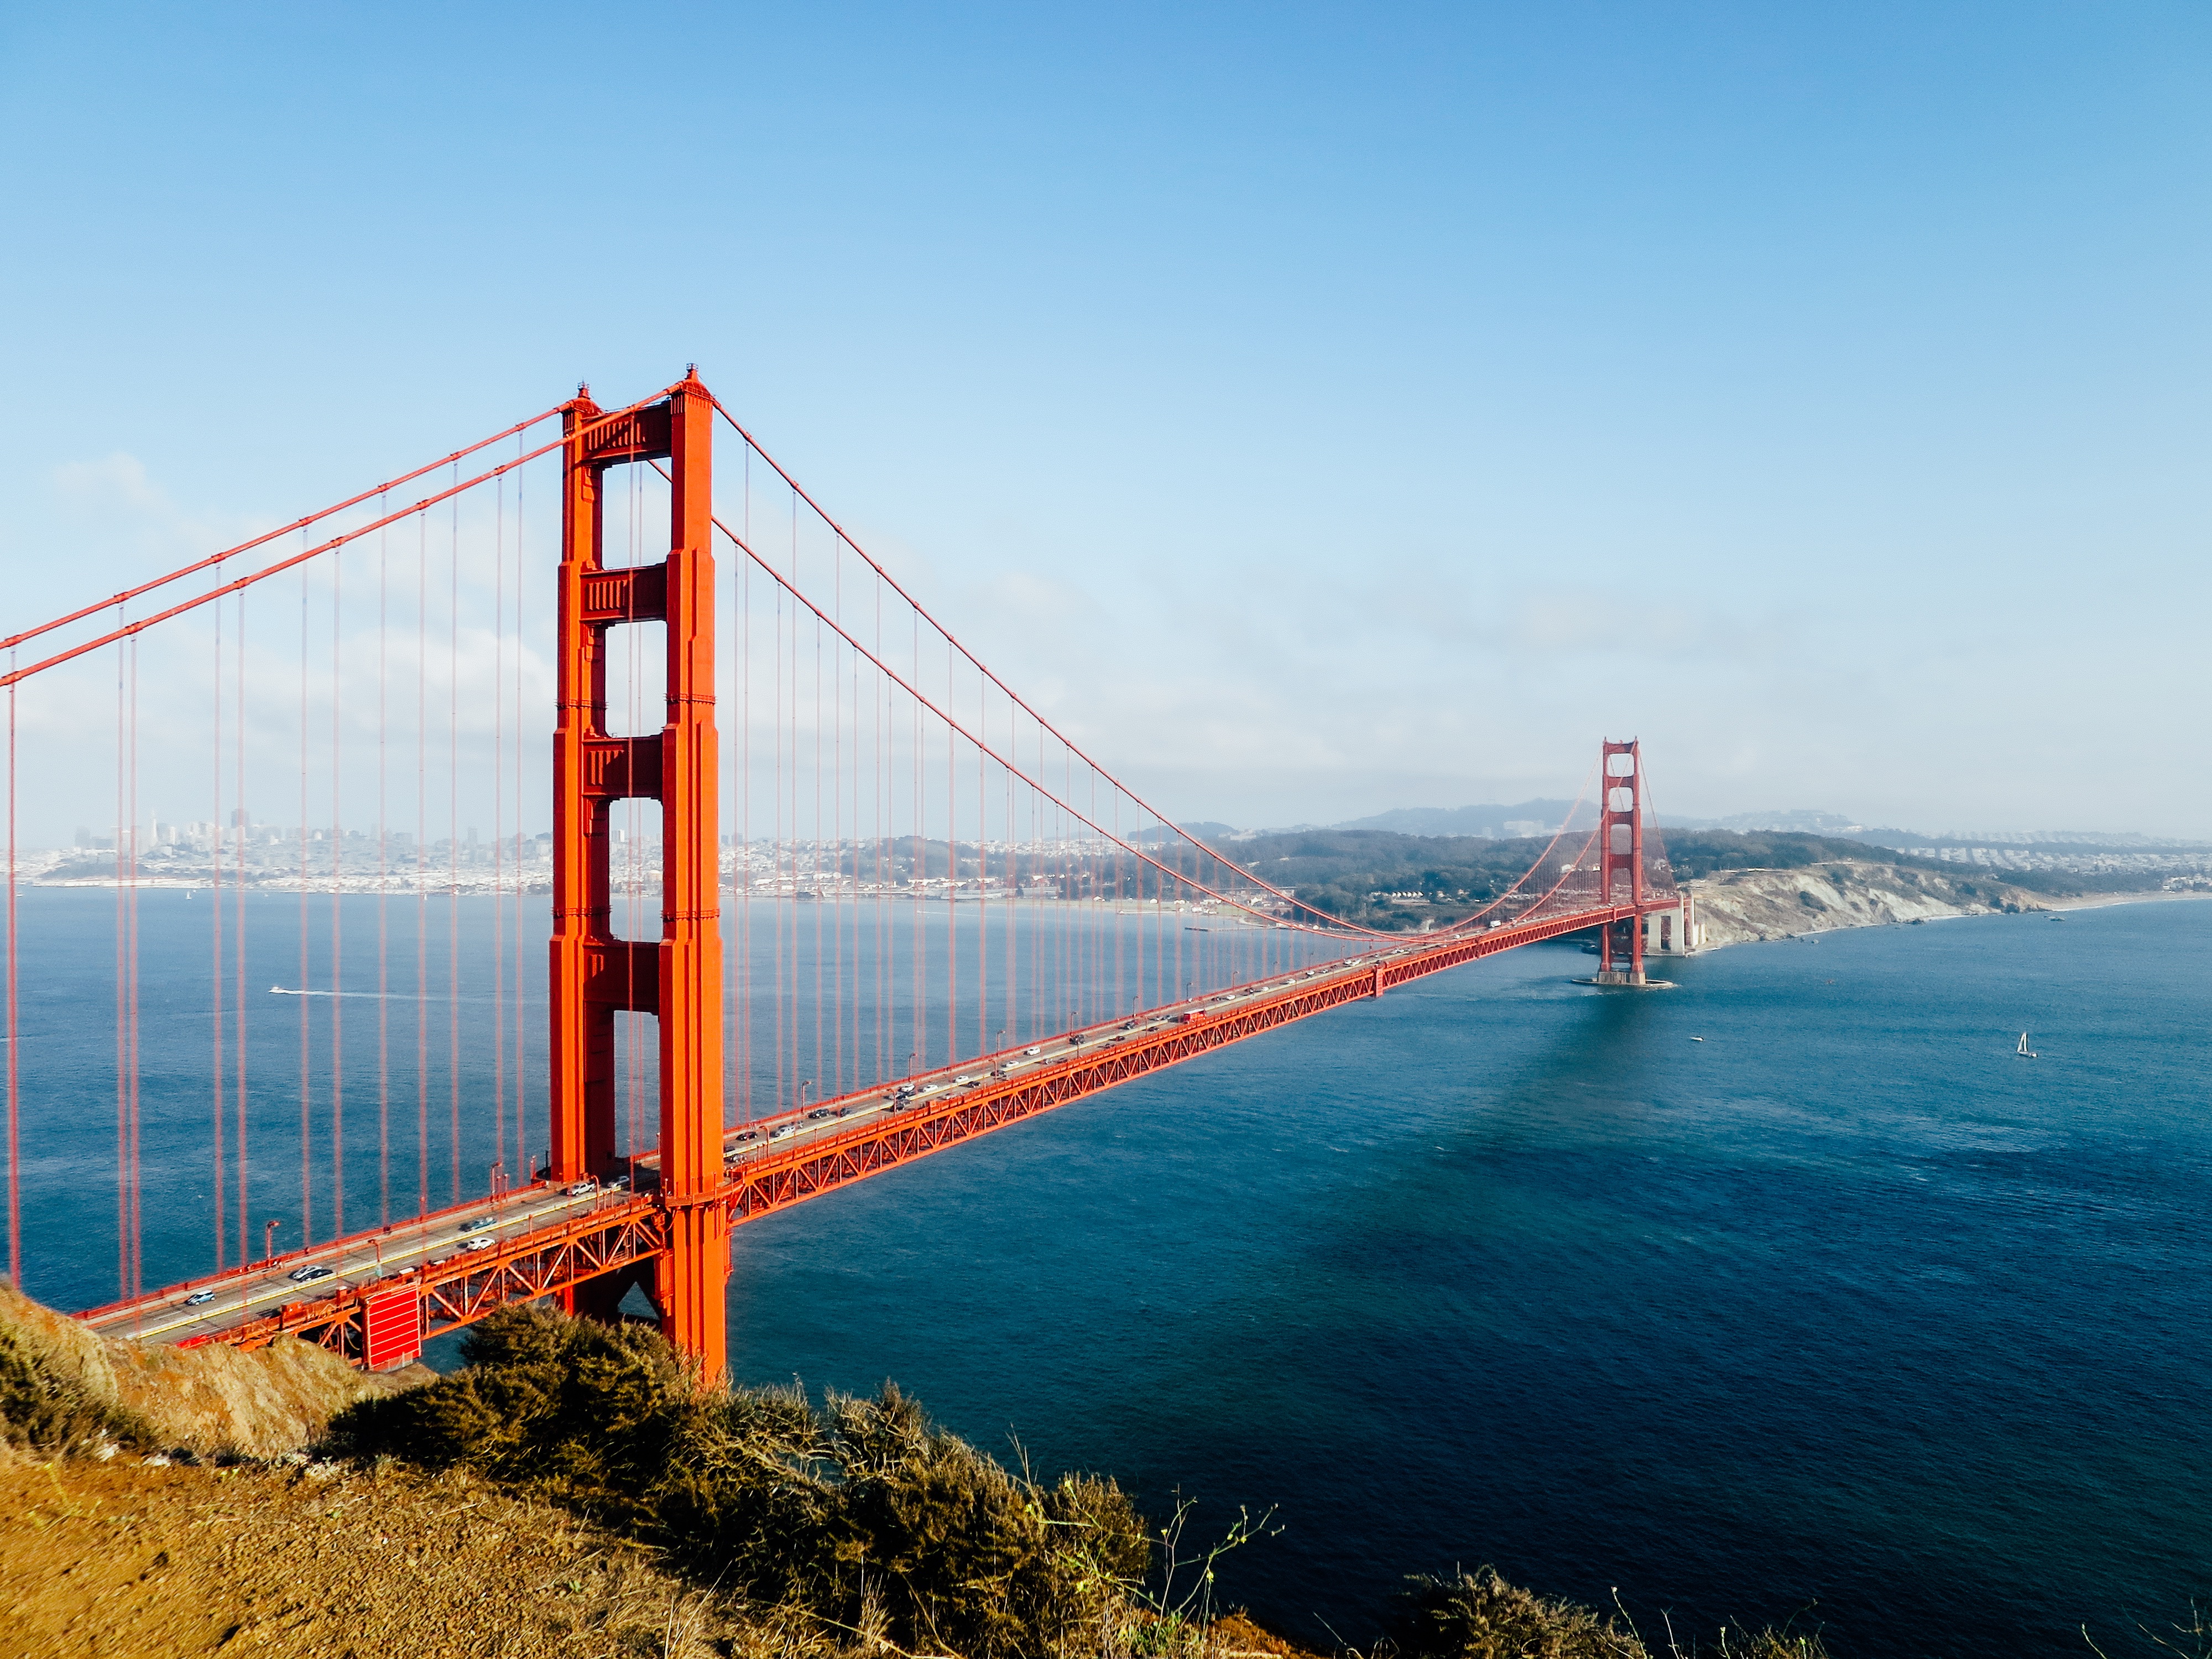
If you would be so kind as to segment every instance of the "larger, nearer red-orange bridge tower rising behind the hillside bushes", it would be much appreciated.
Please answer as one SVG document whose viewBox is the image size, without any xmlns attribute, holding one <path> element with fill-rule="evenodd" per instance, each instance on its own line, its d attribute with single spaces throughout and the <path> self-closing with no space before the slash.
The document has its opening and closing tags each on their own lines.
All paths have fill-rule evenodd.
<svg viewBox="0 0 2212 1659">
<path fill-rule="evenodd" d="M 553 730 L 553 1137 L 555 1181 L 608 1179 L 615 1155 L 615 1015 L 659 1022 L 659 1203 L 670 1252 L 655 1265 L 661 1329 L 708 1378 L 726 1367 L 730 1228 L 721 1186 L 721 872 L 714 737 L 714 400 L 688 374 L 661 403 L 597 425 L 588 389 L 562 411 L 562 562 Z M 608 568 L 608 467 L 666 460 L 668 557 Z M 648 737 L 606 730 L 606 637 L 659 622 L 668 714 Z M 661 803 L 661 936 L 622 940 L 608 874 L 617 801 Z M 622 1276 L 566 1292 L 611 1318 Z"/>
</svg>

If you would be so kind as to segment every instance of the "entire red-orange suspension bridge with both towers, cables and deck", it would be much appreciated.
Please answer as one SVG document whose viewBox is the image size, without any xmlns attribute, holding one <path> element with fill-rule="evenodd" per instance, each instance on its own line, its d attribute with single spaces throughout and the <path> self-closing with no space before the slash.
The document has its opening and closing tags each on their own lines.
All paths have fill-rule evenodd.
<svg viewBox="0 0 2212 1659">
<path fill-rule="evenodd" d="M 721 1374 L 732 1225 L 1482 956 L 1595 929 L 1630 987 L 1692 942 L 1635 741 L 1449 927 L 1301 902 L 991 672 L 695 374 L 0 644 L 9 1274 L 86 1281 L 113 1161 L 108 1334 L 383 1369 L 644 1290 Z M 27 1203 L 33 1245 L 69 1214 L 51 1272 Z M 197 1276 L 148 1287 L 148 1234 Z"/>
</svg>

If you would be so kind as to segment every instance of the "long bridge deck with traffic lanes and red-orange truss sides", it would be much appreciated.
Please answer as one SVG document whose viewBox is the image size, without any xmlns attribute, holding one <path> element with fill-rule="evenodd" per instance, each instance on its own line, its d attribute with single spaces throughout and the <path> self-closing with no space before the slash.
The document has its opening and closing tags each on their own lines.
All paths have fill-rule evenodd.
<svg viewBox="0 0 2212 1659">
<path fill-rule="evenodd" d="M 1677 902 L 1648 896 L 1641 911 Z M 723 1135 L 721 1199 L 732 1225 L 752 1221 L 1230 1042 L 1383 995 L 1391 984 L 1637 914 L 1632 905 L 1537 914 L 1478 933 L 1367 951 L 739 1124 Z M 661 1254 L 666 1212 L 655 1192 L 655 1161 L 639 1155 L 633 1175 L 608 1188 L 535 1181 L 77 1318 L 104 1336 L 179 1347 L 261 1347 L 296 1334 L 358 1360 L 369 1303 L 394 1294 L 420 1305 L 427 1340 L 502 1303 L 635 1270 Z"/>
</svg>

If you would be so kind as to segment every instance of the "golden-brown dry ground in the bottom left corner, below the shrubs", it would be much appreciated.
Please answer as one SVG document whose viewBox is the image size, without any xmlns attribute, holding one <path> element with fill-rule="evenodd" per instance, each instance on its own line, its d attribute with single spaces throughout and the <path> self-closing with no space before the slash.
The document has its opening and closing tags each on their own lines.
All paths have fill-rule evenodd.
<svg viewBox="0 0 2212 1659">
<path fill-rule="evenodd" d="M 557 1509 L 405 1469 L 11 1453 L 0 1597 L 11 1659 L 810 1650 Z"/>
</svg>

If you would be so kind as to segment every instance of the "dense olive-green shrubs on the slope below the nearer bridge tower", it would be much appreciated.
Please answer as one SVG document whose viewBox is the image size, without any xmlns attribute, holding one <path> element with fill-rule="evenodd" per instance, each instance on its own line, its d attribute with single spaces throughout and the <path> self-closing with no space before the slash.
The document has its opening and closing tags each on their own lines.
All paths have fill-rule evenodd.
<svg viewBox="0 0 2212 1659">
<path fill-rule="evenodd" d="M 900 1648 L 1046 1655 L 1128 1604 L 1148 1535 L 1110 1480 L 1042 1486 L 874 1400 L 701 1389 L 644 1327 L 507 1307 L 467 1369 L 332 1422 L 345 1455 L 467 1464 L 668 1551 L 761 1604 Z"/>
</svg>

